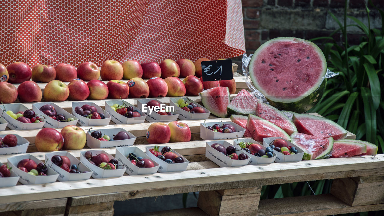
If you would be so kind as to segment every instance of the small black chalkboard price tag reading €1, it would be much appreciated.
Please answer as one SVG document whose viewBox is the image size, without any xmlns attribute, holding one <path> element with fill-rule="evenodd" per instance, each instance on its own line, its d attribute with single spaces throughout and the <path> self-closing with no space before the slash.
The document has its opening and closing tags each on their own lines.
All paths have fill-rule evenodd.
<svg viewBox="0 0 384 216">
<path fill-rule="evenodd" d="M 232 60 L 202 61 L 203 81 L 232 80 Z"/>
</svg>

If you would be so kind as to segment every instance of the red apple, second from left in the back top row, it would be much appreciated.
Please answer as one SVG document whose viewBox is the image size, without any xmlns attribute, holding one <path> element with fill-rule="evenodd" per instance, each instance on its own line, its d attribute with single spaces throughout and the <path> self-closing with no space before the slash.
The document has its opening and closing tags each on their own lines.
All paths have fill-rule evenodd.
<svg viewBox="0 0 384 216">
<path fill-rule="evenodd" d="M 31 68 L 24 62 L 15 62 L 7 66 L 8 83 L 22 83 L 31 79 Z"/>
</svg>

